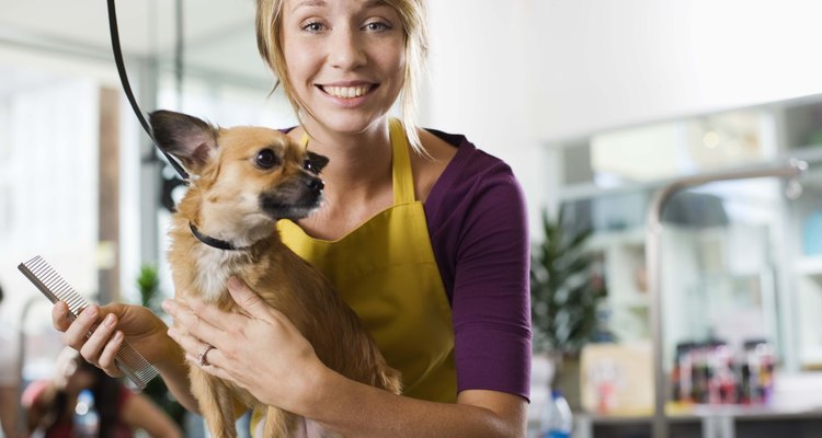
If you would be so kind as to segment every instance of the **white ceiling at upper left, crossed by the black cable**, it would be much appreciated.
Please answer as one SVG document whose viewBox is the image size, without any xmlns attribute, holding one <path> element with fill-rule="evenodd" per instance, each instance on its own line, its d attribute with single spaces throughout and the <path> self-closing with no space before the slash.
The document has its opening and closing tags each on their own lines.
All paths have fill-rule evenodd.
<svg viewBox="0 0 822 438">
<path fill-rule="evenodd" d="M 175 5 L 174 0 L 116 1 L 127 65 L 129 58 L 151 55 L 171 61 Z M 271 81 L 256 55 L 253 7 L 253 0 L 183 0 L 185 69 L 239 82 Z M 103 0 L 0 0 L 0 11 L 1 45 L 111 57 Z"/>
</svg>

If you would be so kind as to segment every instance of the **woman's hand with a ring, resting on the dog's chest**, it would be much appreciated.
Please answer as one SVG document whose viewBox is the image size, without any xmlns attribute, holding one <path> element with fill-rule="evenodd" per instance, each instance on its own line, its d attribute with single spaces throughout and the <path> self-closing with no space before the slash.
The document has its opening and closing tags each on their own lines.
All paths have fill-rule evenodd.
<svg viewBox="0 0 822 438">
<path fill-rule="evenodd" d="M 237 383 L 267 405 L 300 413 L 316 394 L 318 373 L 327 368 L 283 313 L 237 278 L 229 279 L 228 289 L 243 312 L 225 312 L 190 298 L 185 303 L 165 300 L 163 309 L 181 327 L 169 330 L 169 335 L 194 366 Z M 214 348 L 206 364 L 198 364 L 209 345 Z"/>
</svg>

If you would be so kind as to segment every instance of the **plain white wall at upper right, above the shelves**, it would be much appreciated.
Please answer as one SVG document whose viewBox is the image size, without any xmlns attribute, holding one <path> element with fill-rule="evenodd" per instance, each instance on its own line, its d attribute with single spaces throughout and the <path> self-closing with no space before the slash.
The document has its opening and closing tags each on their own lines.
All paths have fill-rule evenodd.
<svg viewBox="0 0 822 438">
<path fill-rule="evenodd" d="M 532 220 L 551 198 L 545 143 L 822 92 L 814 0 L 504 4 L 429 2 L 424 122 L 509 161 Z"/>
</svg>

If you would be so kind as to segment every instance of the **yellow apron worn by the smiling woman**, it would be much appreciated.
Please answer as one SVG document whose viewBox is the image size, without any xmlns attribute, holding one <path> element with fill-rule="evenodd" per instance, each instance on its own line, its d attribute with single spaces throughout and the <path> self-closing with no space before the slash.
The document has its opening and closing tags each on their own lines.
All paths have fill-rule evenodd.
<svg viewBox="0 0 822 438">
<path fill-rule="evenodd" d="M 336 241 L 313 239 L 289 220 L 277 228 L 283 241 L 317 266 L 359 315 L 388 364 L 402 372 L 404 395 L 454 403 L 450 306 L 425 211 L 414 198 L 409 146 L 397 119 L 390 120 L 390 137 L 393 206 Z M 308 145 L 307 135 L 302 143 Z"/>
</svg>

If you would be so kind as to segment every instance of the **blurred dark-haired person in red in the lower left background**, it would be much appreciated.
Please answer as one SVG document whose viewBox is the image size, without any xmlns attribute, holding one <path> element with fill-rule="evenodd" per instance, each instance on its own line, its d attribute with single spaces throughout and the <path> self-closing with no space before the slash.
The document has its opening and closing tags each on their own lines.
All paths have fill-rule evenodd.
<svg viewBox="0 0 822 438">
<path fill-rule="evenodd" d="M 148 397 L 129 391 L 70 348 L 57 358 L 52 380 L 32 382 L 23 393 L 28 434 L 46 438 L 77 436 L 72 416 L 83 390 L 94 396 L 100 437 L 129 438 L 137 429 L 151 437 L 182 437 L 174 422 Z"/>
</svg>

